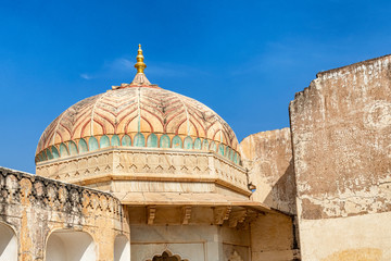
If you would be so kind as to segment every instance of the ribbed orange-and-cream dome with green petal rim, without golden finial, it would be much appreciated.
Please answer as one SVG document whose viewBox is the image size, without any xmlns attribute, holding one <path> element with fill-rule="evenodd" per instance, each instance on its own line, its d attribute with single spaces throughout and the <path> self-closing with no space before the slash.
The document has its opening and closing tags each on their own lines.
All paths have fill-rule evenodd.
<svg viewBox="0 0 391 261">
<path fill-rule="evenodd" d="M 127 85 L 64 111 L 41 135 L 36 162 L 110 146 L 213 150 L 240 161 L 235 133 L 213 110 L 153 85 Z"/>
</svg>

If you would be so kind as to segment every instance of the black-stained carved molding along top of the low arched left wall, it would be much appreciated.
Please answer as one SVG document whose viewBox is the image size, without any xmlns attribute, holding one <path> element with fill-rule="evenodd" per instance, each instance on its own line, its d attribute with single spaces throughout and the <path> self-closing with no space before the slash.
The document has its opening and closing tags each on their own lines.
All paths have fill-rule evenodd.
<svg viewBox="0 0 391 261">
<path fill-rule="evenodd" d="M 31 204 L 51 211 L 85 215 L 96 211 L 119 220 L 123 215 L 117 198 L 110 194 L 0 167 L 1 203 L 20 204 L 27 198 Z"/>
</svg>

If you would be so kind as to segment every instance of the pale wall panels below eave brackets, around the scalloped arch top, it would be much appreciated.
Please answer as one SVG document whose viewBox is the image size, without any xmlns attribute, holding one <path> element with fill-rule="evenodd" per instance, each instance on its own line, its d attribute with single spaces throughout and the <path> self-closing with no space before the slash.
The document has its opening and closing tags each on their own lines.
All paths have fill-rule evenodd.
<svg viewBox="0 0 391 261">
<path fill-rule="evenodd" d="M 222 261 L 234 250 L 249 260 L 249 231 L 215 225 L 131 225 L 131 260 L 148 261 L 168 250 L 189 261 Z"/>
</svg>

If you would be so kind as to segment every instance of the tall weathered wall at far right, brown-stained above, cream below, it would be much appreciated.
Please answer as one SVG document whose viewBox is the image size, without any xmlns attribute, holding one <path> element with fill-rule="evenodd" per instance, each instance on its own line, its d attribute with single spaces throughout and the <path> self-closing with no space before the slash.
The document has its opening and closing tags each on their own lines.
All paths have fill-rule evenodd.
<svg viewBox="0 0 391 261">
<path fill-rule="evenodd" d="M 390 229 L 390 94 L 388 55 L 319 73 L 291 102 L 303 260 L 391 260 L 391 234 L 378 234 Z"/>
</svg>

